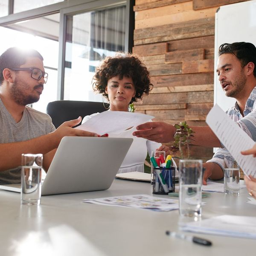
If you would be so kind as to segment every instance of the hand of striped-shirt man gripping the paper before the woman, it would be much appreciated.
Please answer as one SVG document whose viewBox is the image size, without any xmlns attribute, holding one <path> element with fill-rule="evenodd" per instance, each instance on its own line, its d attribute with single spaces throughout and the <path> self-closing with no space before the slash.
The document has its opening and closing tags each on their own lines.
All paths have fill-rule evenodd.
<svg viewBox="0 0 256 256">
<path fill-rule="evenodd" d="M 166 122 L 146 122 L 138 125 L 137 130 L 132 135 L 159 143 L 169 143 L 173 141 L 176 128 Z"/>
</svg>

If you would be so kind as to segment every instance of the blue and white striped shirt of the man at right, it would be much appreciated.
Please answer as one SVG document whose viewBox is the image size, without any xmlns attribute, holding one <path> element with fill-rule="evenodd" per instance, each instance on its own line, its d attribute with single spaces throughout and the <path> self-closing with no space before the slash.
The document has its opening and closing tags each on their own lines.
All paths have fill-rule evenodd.
<svg viewBox="0 0 256 256">
<path fill-rule="evenodd" d="M 236 104 L 226 111 L 227 115 L 236 122 L 241 129 L 243 129 L 254 141 L 256 141 L 256 87 L 253 88 L 249 98 L 245 104 L 244 116 L 242 116 L 239 106 Z M 235 138 L 234 138 L 235 139 Z M 230 152 L 224 147 L 218 148 L 211 160 L 208 162 L 217 163 L 224 170 L 224 154 Z"/>
</svg>

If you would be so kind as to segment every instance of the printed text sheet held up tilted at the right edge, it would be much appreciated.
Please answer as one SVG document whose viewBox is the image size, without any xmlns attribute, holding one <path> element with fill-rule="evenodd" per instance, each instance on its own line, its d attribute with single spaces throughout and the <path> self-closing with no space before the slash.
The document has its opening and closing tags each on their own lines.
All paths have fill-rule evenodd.
<svg viewBox="0 0 256 256">
<path fill-rule="evenodd" d="M 209 111 L 206 122 L 218 139 L 236 159 L 246 175 L 256 177 L 256 158 L 252 155 L 243 156 L 240 152 L 252 148 L 255 142 L 243 131 L 236 122 L 217 105 Z"/>
</svg>

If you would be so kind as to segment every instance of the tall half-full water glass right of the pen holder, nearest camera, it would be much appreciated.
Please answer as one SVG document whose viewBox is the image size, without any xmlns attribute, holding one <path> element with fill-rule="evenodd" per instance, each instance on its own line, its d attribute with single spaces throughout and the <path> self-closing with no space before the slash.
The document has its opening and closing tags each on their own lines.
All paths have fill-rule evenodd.
<svg viewBox="0 0 256 256">
<path fill-rule="evenodd" d="M 201 216 L 202 166 L 202 160 L 180 160 L 179 212 L 181 216 Z"/>
</svg>

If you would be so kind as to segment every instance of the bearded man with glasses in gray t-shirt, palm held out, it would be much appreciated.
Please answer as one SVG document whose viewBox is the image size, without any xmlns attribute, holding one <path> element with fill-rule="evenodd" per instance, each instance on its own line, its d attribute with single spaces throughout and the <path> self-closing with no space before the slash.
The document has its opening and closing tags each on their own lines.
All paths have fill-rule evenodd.
<svg viewBox="0 0 256 256">
<path fill-rule="evenodd" d="M 0 184 L 20 183 L 22 153 L 44 154 L 47 170 L 62 137 L 98 136 L 72 128 L 81 117 L 55 130 L 47 114 L 27 106 L 40 99 L 47 78 L 36 50 L 12 47 L 0 56 Z"/>
</svg>

